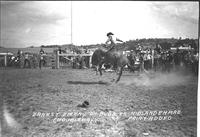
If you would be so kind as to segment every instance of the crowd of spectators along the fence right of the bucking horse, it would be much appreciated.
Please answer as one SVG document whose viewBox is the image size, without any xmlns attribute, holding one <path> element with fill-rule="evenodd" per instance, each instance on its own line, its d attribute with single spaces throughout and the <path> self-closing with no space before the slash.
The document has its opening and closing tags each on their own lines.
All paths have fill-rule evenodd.
<svg viewBox="0 0 200 137">
<path fill-rule="evenodd" d="M 198 74 L 199 55 L 194 49 L 175 51 L 162 49 L 159 44 L 155 48 L 137 46 L 127 54 L 130 63 L 140 71 L 154 70 L 170 72 L 171 70 L 184 69 Z"/>
</svg>

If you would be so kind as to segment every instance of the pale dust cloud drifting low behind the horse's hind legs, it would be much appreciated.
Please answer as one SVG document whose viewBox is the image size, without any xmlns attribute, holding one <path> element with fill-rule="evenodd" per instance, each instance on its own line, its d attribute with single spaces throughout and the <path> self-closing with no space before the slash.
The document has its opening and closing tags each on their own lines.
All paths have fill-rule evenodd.
<svg viewBox="0 0 200 137">
<path fill-rule="evenodd" d="M 189 74 L 180 72 L 152 72 L 146 71 L 136 76 L 125 77 L 121 83 L 125 85 L 146 86 L 149 88 L 170 87 L 177 85 L 185 85 L 192 78 Z"/>
</svg>

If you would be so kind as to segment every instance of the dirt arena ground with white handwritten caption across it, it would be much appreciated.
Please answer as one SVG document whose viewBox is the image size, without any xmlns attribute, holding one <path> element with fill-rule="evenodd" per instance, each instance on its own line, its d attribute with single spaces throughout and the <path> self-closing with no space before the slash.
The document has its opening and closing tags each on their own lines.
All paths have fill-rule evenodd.
<svg viewBox="0 0 200 137">
<path fill-rule="evenodd" d="M 92 69 L 1 69 L 0 132 L 3 137 L 197 136 L 197 77 L 125 72 L 117 84 L 114 78 Z M 78 107 L 86 100 L 89 106 Z"/>
</svg>

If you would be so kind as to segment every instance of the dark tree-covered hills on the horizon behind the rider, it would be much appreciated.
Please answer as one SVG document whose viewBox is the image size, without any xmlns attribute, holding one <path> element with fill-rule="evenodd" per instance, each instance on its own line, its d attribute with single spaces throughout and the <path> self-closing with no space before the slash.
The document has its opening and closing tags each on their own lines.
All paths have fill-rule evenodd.
<svg viewBox="0 0 200 137">
<path fill-rule="evenodd" d="M 141 46 L 154 48 L 157 44 L 159 44 L 163 49 L 170 49 L 171 47 L 180 47 L 180 46 L 191 46 L 191 48 L 194 48 L 195 51 L 199 51 L 199 43 L 198 39 L 182 39 L 181 37 L 179 39 L 175 38 L 143 38 L 143 39 L 135 39 L 135 40 L 129 40 L 126 41 L 125 44 L 119 44 L 118 48 L 123 50 L 135 50 L 136 47 L 140 44 Z M 76 49 L 76 47 L 81 48 L 99 48 L 104 46 L 104 43 L 101 44 L 92 44 L 92 45 L 82 45 L 82 46 L 76 46 L 73 44 L 64 44 L 64 45 L 41 45 L 41 48 L 71 48 Z"/>
</svg>

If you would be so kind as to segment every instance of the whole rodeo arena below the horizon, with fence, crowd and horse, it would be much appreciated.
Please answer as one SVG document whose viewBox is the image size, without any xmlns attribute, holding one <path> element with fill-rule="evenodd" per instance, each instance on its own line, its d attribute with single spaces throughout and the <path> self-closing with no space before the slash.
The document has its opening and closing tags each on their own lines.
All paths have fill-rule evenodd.
<svg viewBox="0 0 200 137">
<path fill-rule="evenodd" d="M 2 135 L 195 137 L 198 48 L 127 45 L 1 48 Z"/>
</svg>

